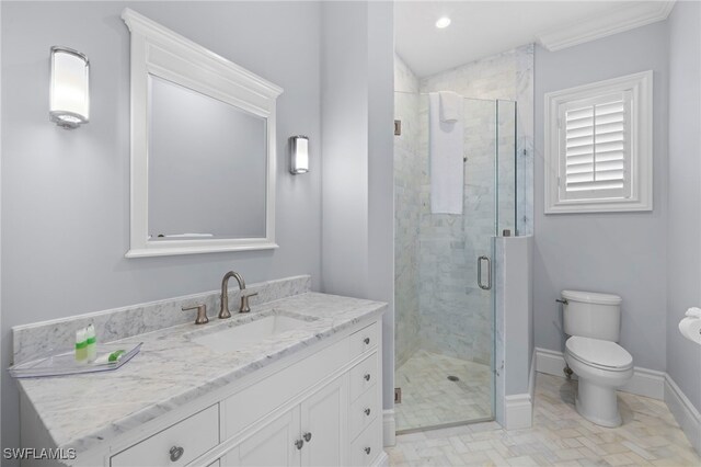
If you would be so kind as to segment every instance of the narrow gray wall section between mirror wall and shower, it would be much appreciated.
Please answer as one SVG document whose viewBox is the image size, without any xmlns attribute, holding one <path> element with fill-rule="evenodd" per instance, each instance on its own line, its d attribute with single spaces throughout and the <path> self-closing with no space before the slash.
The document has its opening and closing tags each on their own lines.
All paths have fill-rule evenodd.
<svg viewBox="0 0 701 467">
<path fill-rule="evenodd" d="M 393 12 L 322 5 L 322 289 L 389 303 L 383 407 L 393 407 Z"/>
</svg>

